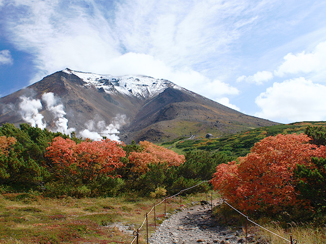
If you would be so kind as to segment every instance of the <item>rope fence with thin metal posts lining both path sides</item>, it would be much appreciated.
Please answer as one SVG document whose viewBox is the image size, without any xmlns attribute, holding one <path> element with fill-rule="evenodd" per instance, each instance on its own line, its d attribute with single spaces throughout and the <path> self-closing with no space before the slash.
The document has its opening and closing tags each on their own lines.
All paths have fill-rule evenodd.
<svg viewBox="0 0 326 244">
<path fill-rule="evenodd" d="M 155 207 L 157 207 L 158 205 L 160 205 L 160 204 L 162 204 L 162 203 L 164 202 L 164 203 L 165 203 L 164 214 L 166 215 L 166 213 L 167 213 L 167 210 L 166 210 L 166 200 L 167 200 L 167 199 L 170 199 L 170 198 L 173 198 L 173 197 L 175 197 L 175 196 L 178 196 L 178 195 L 181 194 L 182 192 L 185 192 L 185 191 L 187 191 L 187 190 L 190 190 L 190 189 L 192 189 L 192 188 L 194 188 L 194 187 L 196 187 L 196 186 L 199 186 L 199 185 L 201 185 L 201 184 L 203 184 L 203 183 L 205 183 L 205 182 L 209 182 L 209 181 L 208 181 L 208 180 L 206 180 L 206 181 L 202 181 L 202 182 L 198 183 L 197 185 L 194 185 L 194 186 L 189 187 L 189 188 L 187 188 L 187 189 L 181 190 L 180 192 L 178 192 L 177 194 L 175 194 L 175 195 L 173 195 L 173 196 L 166 197 L 166 198 L 164 198 L 163 200 L 161 200 L 159 203 L 153 205 L 153 207 L 150 209 L 150 211 L 144 215 L 145 218 L 144 218 L 142 224 L 140 225 L 140 227 L 137 229 L 137 231 L 134 231 L 134 232 L 133 232 L 133 235 L 134 235 L 135 237 L 134 237 L 133 240 L 130 242 L 130 244 L 133 244 L 135 241 L 136 241 L 135 243 L 138 244 L 138 242 L 139 242 L 139 232 L 140 232 L 140 230 L 142 229 L 142 227 L 144 226 L 145 222 L 146 222 L 146 237 L 147 237 L 147 244 L 148 244 L 148 215 L 149 215 L 149 214 L 154 210 L 154 226 L 155 226 L 155 228 L 156 228 L 156 213 L 155 213 Z M 213 198 L 213 193 L 211 194 L 211 209 L 212 209 L 212 207 L 213 207 L 213 199 L 212 199 L 212 198 Z M 206 200 L 207 200 L 207 194 L 206 194 Z M 236 208 L 234 208 L 232 205 L 230 205 L 228 202 L 226 202 L 226 201 L 223 199 L 224 214 L 225 214 L 225 205 L 224 205 L 224 204 L 228 205 L 228 206 L 231 207 L 233 210 L 235 210 L 235 211 L 238 212 L 240 215 L 242 215 L 243 217 L 246 218 L 246 244 L 247 244 L 247 239 L 248 239 L 248 221 L 252 222 L 253 224 L 257 225 L 258 227 L 260 227 L 260 228 L 262 228 L 262 229 L 264 229 L 264 230 L 266 230 L 266 231 L 268 231 L 268 232 L 270 232 L 270 233 L 272 233 L 272 234 L 278 236 L 279 238 L 281 238 L 281 239 L 283 239 L 283 240 L 285 240 L 285 241 L 287 241 L 287 242 L 289 242 L 289 243 L 291 243 L 291 244 L 297 244 L 297 240 L 296 240 L 296 239 L 292 239 L 292 236 L 290 236 L 290 240 L 288 240 L 288 239 L 284 238 L 283 236 L 278 235 L 278 234 L 274 233 L 273 231 L 271 231 L 271 230 L 269 230 L 269 229 L 267 229 L 267 228 L 265 228 L 265 227 L 259 225 L 259 224 L 256 223 L 255 221 L 251 220 L 247 215 L 241 213 L 239 210 L 237 210 Z M 180 207 L 181 207 L 181 206 L 182 206 L 182 203 L 181 203 L 181 197 L 180 197 Z M 226 222 L 226 216 L 225 216 L 225 222 Z"/>
</svg>

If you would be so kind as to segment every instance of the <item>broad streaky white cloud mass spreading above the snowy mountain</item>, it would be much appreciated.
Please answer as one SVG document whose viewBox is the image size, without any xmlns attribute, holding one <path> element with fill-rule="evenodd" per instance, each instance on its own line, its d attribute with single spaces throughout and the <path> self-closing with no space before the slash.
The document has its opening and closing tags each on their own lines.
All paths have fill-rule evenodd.
<svg viewBox="0 0 326 244">
<path fill-rule="evenodd" d="M 6 27 L 16 47 L 35 57 L 32 82 L 65 67 L 146 74 L 216 100 L 238 90 L 206 71 L 257 21 L 255 10 L 266 5 L 258 2 L 123 1 L 109 13 L 97 1 L 15 0 L 21 11 L 8 8 Z"/>
</svg>

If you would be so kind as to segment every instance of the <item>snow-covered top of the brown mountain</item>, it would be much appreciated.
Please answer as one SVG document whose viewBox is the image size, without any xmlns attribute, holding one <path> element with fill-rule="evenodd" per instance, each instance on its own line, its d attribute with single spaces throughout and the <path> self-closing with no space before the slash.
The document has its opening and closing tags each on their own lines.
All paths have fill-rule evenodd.
<svg viewBox="0 0 326 244">
<path fill-rule="evenodd" d="M 149 98 L 163 92 L 168 87 L 182 89 L 182 87 L 164 79 L 155 79 L 148 76 L 112 76 L 85 73 L 64 69 L 62 72 L 74 74 L 85 82 L 85 87 L 95 86 L 106 93 L 123 93 L 138 98 Z"/>
</svg>

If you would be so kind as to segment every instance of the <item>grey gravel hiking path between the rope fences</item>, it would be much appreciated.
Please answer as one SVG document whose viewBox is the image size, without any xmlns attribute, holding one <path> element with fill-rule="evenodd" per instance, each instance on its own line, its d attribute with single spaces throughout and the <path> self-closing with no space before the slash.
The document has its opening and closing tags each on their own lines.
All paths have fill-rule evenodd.
<svg viewBox="0 0 326 244">
<path fill-rule="evenodd" d="M 213 202 L 213 206 L 217 204 L 221 204 L 221 200 Z M 149 243 L 245 243 L 245 233 L 241 227 L 231 229 L 228 226 L 220 226 L 211 217 L 212 211 L 210 209 L 210 205 L 207 204 L 193 205 L 181 212 L 172 214 L 149 237 Z M 249 235 L 249 242 L 267 243 L 256 240 L 253 235 Z"/>
</svg>

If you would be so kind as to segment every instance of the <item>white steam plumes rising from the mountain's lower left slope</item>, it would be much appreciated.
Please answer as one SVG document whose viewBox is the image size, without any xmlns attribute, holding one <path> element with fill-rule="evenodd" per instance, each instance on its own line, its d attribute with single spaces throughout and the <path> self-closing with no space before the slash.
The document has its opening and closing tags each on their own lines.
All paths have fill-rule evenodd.
<svg viewBox="0 0 326 244">
<path fill-rule="evenodd" d="M 68 128 L 68 119 L 65 117 L 63 104 L 60 103 L 60 99 L 54 96 L 53 92 L 46 92 L 42 95 L 42 102 L 40 99 L 33 99 L 31 97 L 22 96 L 19 104 L 20 113 L 23 119 L 29 123 L 32 127 L 38 127 L 45 129 L 48 125 L 46 121 L 43 121 L 44 116 L 40 113 L 40 110 L 46 109 L 49 111 L 55 119 L 55 128 L 49 128 L 52 132 L 61 132 L 69 135 L 74 132 L 74 128 Z M 106 125 L 104 120 L 98 121 L 90 120 L 86 124 L 88 129 L 79 132 L 79 136 L 83 138 L 89 138 L 91 140 L 101 140 L 106 137 L 112 141 L 120 141 L 120 138 L 116 135 L 122 125 L 125 124 L 126 115 L 118 114 L 110 125 Z"/>
</svg>

